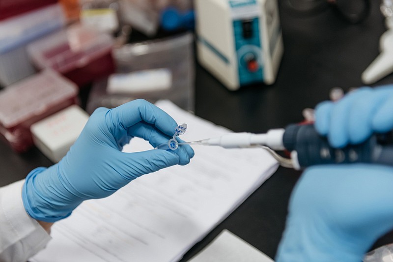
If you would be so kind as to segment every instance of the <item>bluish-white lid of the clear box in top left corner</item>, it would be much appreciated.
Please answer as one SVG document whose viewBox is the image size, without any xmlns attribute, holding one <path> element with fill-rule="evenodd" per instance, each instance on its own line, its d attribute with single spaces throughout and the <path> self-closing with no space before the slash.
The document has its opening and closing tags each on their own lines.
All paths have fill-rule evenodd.
<svg viewBox="0 0 393 262">
<path fill-rule="evenodd" d="M 0 54 L 31 42 L 65 24 L 60 4 L 53 4 L 0 22 Z"/>
</svg>

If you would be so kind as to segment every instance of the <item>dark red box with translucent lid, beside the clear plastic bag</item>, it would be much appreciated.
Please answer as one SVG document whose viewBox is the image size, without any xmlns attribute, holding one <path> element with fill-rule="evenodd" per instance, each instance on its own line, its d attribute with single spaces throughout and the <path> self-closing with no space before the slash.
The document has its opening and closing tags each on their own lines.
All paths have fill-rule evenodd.
<svg viewBox="0 0 393 262">
<path fill-rule="evenodd" d="M 112 47 L 109 34 L 74 24 L 28 45 L 28 55 L 38 69 L 52 68 L 84 87 L 114 72 Z"/>
</svg>

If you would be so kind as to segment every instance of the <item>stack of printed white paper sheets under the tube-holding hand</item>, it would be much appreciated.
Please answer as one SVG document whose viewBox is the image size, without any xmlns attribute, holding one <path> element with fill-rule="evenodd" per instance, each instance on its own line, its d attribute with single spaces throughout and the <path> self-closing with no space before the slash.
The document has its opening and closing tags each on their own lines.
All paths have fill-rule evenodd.
<svg viewBox="0 0 393 262">
<path fill-rule="evenodd" d="M 185 141 L 229 132 L 168 101 L 157 106 L 188 125 Z M 151 149 L 132 139 L 123 151 Z M 31 262 L 170 262 L 227 217 L 277 169 L 263 149 L 193 146 L 186 166 L 141 176 L 112 196 L 89 200 L 52 227 L 53 239 Z"/>
</svg>

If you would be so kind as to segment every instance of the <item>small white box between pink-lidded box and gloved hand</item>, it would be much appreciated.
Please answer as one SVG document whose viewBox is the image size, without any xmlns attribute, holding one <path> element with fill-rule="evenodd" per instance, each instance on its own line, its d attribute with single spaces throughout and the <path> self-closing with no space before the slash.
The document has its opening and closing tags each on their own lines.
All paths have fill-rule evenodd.
<svg viewBox="0 0 393 262">
<path fill-rule="evenodd" d="M 31 125 L 33 142 L 54 163 L 63 158 L 81 134 L 89 115 L 72 105 Z"/>
</svg>

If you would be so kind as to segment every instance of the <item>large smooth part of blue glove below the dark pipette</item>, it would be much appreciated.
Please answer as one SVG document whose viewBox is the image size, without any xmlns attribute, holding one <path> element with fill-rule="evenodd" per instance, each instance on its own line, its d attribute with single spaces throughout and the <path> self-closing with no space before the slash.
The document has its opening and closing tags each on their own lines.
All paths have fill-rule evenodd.
<svg viewBox="0 0 393 262">
<path fill-rule="evenodd" d="M 307 169 L 292 192 L 276 262 L 361 262 L 393 228 L 393 168 Z"/>
</svg>

